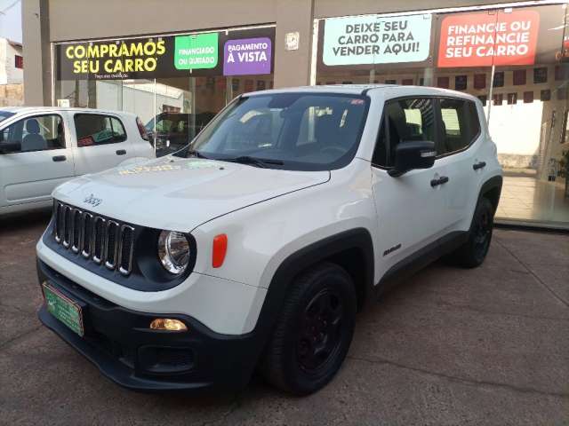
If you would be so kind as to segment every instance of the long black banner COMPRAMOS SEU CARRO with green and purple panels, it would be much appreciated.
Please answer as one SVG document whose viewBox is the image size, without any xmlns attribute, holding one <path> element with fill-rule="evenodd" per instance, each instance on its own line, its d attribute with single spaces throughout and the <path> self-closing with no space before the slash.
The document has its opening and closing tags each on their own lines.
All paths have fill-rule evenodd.
<svg viewBox="0 0 569 426">
<path fill-rule="evenodd" d="M 55 44 L 56 80 L 270 74 L 275 28 Z M 223 62 L 220 58 L 224 51 Z"/>
</svg>

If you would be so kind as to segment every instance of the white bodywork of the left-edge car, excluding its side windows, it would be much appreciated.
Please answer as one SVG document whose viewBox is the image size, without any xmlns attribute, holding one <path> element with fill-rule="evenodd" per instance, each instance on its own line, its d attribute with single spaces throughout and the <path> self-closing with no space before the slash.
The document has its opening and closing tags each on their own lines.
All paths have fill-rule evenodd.
<svg viewBox="0 0 569 426">
<path fill-rule="evenodd" d="M 37 121 L 39 117 L 59 116 L 65 144 L 54 149 L 46 147 L 0 154 L 0 216 L 49 207 L 55 187 L 71 178 L 156 158 L 153 146 L 140 136 L 134 114 L 49 106 L 0 108 L 0 115 L 3 113 L 9 116 L 0 121 L 0 135 L 4 131 L 7 135 L 8 129 L 19 122 L 28 122 L 35 117 Z M 116 117 L 124 126 L 126 138 L 116 143 L 78 146 L 76 114 Z"/>
</svg>

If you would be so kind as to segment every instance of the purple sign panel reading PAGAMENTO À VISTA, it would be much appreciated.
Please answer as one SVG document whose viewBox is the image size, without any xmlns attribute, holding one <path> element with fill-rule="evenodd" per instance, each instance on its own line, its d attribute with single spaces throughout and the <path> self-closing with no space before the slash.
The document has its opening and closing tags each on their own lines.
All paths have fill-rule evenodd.
<svg viewBox="0 0 569 426">
<path fill-rule="evenodd" d="M 223 75 L 270 74 L 271 51 L 268 37 L 228 40 L 223 47 Z"/>
</svg>

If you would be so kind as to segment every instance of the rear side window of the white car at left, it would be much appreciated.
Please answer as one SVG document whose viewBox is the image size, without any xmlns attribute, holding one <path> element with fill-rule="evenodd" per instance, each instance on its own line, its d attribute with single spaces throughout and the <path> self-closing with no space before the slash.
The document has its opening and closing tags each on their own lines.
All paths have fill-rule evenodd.
<svg viewBox="0 0 569 426">
<path fill-rule="evenodd" d="M 100 114 L 75 114 L 77 146 L 116 144 L 126 140 L 123 123 Z"/>
</svg>

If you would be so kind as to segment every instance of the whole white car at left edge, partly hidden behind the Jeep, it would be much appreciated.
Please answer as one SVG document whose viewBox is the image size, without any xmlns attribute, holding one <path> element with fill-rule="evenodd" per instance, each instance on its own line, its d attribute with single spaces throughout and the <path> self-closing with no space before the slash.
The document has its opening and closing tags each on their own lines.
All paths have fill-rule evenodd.
<svg viewBox="0 0 569 426">
<path fill-rule="evenodd" d="M 0 108 L 0 216 L 52 205 L 70 178 L 155 157 L 140 119 L 84 108 Z"/>
</svg>

